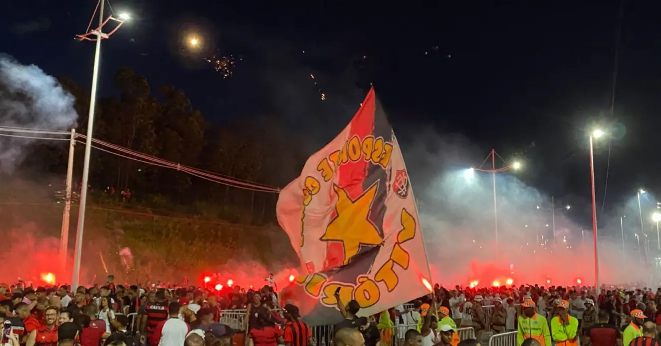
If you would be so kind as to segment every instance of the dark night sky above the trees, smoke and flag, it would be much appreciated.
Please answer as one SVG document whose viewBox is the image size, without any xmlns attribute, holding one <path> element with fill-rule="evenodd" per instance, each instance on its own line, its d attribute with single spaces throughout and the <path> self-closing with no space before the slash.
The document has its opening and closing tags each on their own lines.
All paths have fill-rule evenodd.
<svg viewBox="0 0 661 346">
<path fill-rule="evenodd" d="M 88 88 L 94 43 L 73 37 L 85 31 L 95 3 L 4 1 L 0 47 Z M 619 0 L 111 5 L 134 20 L 103 43 L 102 96 L 113 93 L 118 67 L 132 67 L 153 88 L 185 90 L 212 123 L 275 116 L 299 130 L 292 138 L 321 146 L 346 125 L 373 83 L 405 152 L 414 144 L 432 153 L 470 144 L 465 162 L 453 160 L 463 165 L 479 164 L 491 148 L 506 159 L 519 153 L 523 181 L 587 204 L 586 131 L 601 122 L 614 133 L 606 209 L 639 187 L 661 188 L 655 159 L 661 5 L 654 1 L 625 1 L 614 117 L 609 103 Z M 204 42 L 202 53 L 182 45 L 189 33 Z M 232 78 L 202 61 L 214 54 L 235 57 Z M 607 144 L 599 143 L 600 202 L 607 153 Z"/>
</svg>

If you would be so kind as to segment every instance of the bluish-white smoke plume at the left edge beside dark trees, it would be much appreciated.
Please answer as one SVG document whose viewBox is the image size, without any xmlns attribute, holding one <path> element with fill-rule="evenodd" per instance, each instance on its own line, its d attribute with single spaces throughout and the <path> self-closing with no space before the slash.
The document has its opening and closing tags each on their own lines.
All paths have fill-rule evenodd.
<svg viewBox="0 0 661 346">
<path fill-rule="evenodd" d="M 0 127 L 68 130 L 78 118 L 74 102 L 58 80 L 39 67 L 0 55 Z M 13 171 L 35 141 L 12 136 L 0 137 L 0 169 L 5 172 Z"/>
</svg>

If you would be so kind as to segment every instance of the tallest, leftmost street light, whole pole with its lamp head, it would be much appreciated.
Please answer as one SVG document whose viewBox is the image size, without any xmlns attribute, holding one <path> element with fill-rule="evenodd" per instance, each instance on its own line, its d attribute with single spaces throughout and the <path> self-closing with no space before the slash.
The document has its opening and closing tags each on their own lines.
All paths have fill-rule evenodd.
<svg viewBox="0 0 661 346">
<path fill-rule="evenodd" d="M 81 252 L 83 248 L 83 231 L 85 230 L 85 206 L 87 204 L 87 187 L 88 187 L 88 178 L 89 178 L 89 157 L 92 150 L 92 134 L 94 130 L 94 113 L 95 106 L 97 105 L 97 84 L 98 84 L 98 63 L 101 55 L 101 41 L 106 38 L 110 38 L 126 20 L 131 18 L 128 13 L 119 14 L 119 18 L 114 18 L 112 15 L 108 16 L 104 20 L 103 17 L 103 7 L 105 0 L 98 2 L 98 28 L 90 30 L 90 27 L 87 27 L 87 32 L 85 34 L 76 35 L 79 40 L 88 40 L 96 41 L 97 47 L 94 53 L 94 67 L 92 71 L 92 90 L 89 95 L 89 117 L 87 118 L 87 140 L 85 140 L 85 159 L 83 159 L 83 181 L 81 187 L 81 196 L 80 204 L 78 210 L 78 228 L 76 231 L 76 247 L 75 253 L 73 256 L 73 278 L 71 279 L 71 287 L 78 287 L 78 281 L 80 276 L 81 268 Z M 94 16 L 94 15 L 93 15 Z M 117 22 L 117 26 L 108 32 L 107 34 L 103 32 L 103 26 L 108 24 L 110 21 Z M 90 22 L 91 24 L 91 22 Z"/>
</svg>

